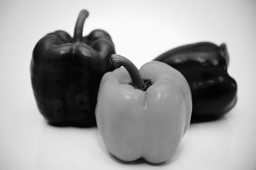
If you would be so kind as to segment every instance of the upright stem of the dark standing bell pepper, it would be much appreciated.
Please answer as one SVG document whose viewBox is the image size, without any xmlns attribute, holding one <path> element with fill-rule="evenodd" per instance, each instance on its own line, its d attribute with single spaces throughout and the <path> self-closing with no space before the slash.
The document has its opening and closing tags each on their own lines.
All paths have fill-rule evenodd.
<svg viewBox="0 0 256 170">
<path fill-rule="evenodd" d="M 76 26 L 75 26 L 74 37 L 73 37 L 74 42 L 82 41 L 84 21 L 88 16 L 89 16 L 88 11 L 86 10 L 80 11 L 78 18 L 76 20 Z"/>
</svg>

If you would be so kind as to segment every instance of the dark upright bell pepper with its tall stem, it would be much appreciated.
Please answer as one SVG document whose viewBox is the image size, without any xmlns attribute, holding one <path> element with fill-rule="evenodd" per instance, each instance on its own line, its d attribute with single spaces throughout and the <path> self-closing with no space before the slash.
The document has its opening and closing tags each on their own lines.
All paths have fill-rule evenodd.
<svg viewBox="0 0 256 170">
<path fill-rule="evenodd" d="M 96 125 L 95 106 L 100 80 L 113 70 L 115 47 L 106 31 L 83 37 L 88 11 L 77 18 L 74 37 L 55 31 L 38 41 L 31 60 L 31 82 L 37 106 L 54 125 Z"/>
</svg>

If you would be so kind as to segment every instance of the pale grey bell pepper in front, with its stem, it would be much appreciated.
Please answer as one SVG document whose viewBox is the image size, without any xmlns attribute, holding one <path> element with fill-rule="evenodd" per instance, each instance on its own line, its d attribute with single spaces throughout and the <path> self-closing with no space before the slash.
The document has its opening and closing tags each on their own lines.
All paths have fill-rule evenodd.
<svg viewBox="0 0 256 170">
<path fill-rule="evenodd" d="M 102 77 L 95 110 L 106 148 L 124 161 L 171 159 L 190 123 L 188 82 L 163 62 L 140 71 L 120 55 L 111 55 L 111 62 L 116 69 Z"/>
</svg>

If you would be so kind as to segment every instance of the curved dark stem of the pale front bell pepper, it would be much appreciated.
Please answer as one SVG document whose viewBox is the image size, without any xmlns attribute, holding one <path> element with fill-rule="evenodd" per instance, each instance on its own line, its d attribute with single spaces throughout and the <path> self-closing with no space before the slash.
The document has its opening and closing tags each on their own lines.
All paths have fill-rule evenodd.
<svg viewBox="0 0 256 170">
<path fill-rule="evenodd" d="M 122 55 L 112 54 L 110 57 L 110 61 L 115 69 L 121 66 L 124 66 L 125 69 L 127 69 L 132 79 L 132 86 L 135 89 L 140 89 L 143 91 L 146 89 L 146 85 L 141 78 L 139 70 L 129 59 L 123 57 Z"/>
</svg>

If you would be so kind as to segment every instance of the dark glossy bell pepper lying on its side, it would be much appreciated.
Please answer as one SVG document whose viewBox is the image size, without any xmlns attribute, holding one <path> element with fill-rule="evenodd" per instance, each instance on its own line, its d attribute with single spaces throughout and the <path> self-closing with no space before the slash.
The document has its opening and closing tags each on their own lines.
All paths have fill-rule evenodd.
<svg viewBox="0 0 256 170">
<path fill-rule="evenodd" d="M 193 99 L 191 119 L 220 118 L 236 104 L 237 83 L 227 72 L 225 43 L 200 42 L 173 48 L 155 60 L 179 70 L 189 82 Z"/>
</svg>

